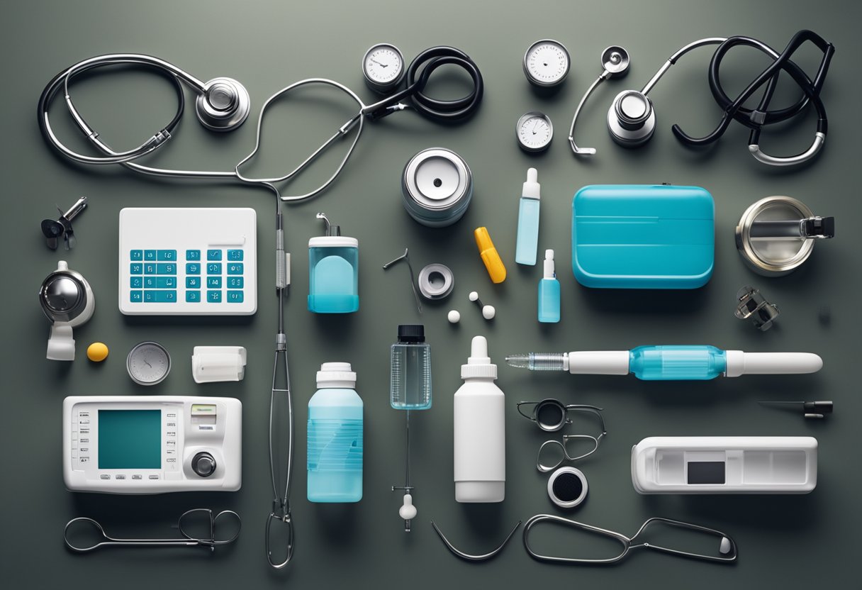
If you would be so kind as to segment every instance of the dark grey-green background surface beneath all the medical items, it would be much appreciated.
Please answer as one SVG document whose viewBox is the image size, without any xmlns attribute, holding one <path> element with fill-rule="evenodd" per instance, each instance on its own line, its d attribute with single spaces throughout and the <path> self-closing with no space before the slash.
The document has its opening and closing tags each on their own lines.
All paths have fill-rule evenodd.
<svg viewBox="0 0 862 590">
<path fill-rule="evenodd" d="M 859 356 L 859 6 L 853 2 L 721 3 L 620 0 L 615 3 L 236 3 L 32 2 L 3 9 L 3 534 L 4 587 L 856 587 L 854 535 L 859 518 L 857 417 Z M 604 114 L 616 92 L 640 88 L 678 47 L 714 35 L 752 35 L 779 51 L 797 29 L 811 28 L 837 47 L 823 90 L 830 116 L 826 148 L 810 166 L 777 170 L 746 153 L 747 130 L 734 124 L 703 152 L 674 140 L 672 122 L 705 133 L 718 110 L 705 81 L 709 49 L 681 60 L 653 91 L 659 116 L 653 141 L 636 151 L 616 147 Z M 563 41 L 572 72 L 559 91 L 535 92 L 522 74 L 522 55 L 540 38 Z M 232 76 L 248 88 L 253 113 L 229 136 L 213 137 L 195 122 L 191 106 L 175 145 L 157 161 L 166 166 L 229 168 L 253 146 L 253 124 L 265 97 L 290 82 L 329 77 L 365 100 L 359 61 L 367 47 L 390 41 L 410 60 L 432 45 L 451 44 L 469 53 L 484 74 L 486 94 L 478 115 L 447 128 L 405 112 L 369 123 L 359 148 L 334 187 L 314 202 L 287 211 L 287 248 L 294 254 L 293 284 L 285 306 L 297 405 L 297 470 L 292 493 L 297 549 L 290 567 L 273 572 L 265 563 L 263 528 L 270 508 L 266 419 L 276 302 L 272 297 L 272 196 L 237 185 L 146 179 L 119 167 L 72 166 L 41 140 L 35 104 L 47 80 L 77 60 L 110 52 L 152 53 L 198 78 Z M 578 139 L 598 148 L 575 160 L 566 145 L 578 99 L 600 71 L 603 47 L 622 44 L 632 54 L 628 78 L 600 87 L 578 126 Z M 798 62 L 814 71 L 811 47 Z M 739 91 L 765 66 L 753 50 L 728 55 L 722 76 Z M 727 72 L 727 73 L 725 73 Z M 457 95 L 463 80 L 447 74 L 441 92 Z M 448 86 L 448 87 L 447 87 Z M 171 89 L 141 72 L 98 75 L 75 85 L 74 94 L 92 125 L 117 147 L 137 145 L 172 114 Z M 796 96 L 790 85 L 779 92 Z M 304 157 L 340 121 L 339 107 L 311 92 L 284 101 L 267 118 L 265 154 L 255 173 L 274 173 Z M 341 109 L 343 110 L 343 109 Z M 553 119 L 556 136 L 539 157 L 523 154 L 514 127 L 527 110 Z M 83 144 L 60 101 L 53 122 L 72 145 Z M 814 121 L 764 134 L 765 148 L 790 154 L 809 145 Z M 476 192 L 465 218 L 447 229 L 426 229 L 401 205 L 399 174 L 409 156 L 439 145 L 472 167 Z M 322 164 L 328 163 L 324 160 Z M 541 248 L 555 248 L 563 292 L 563 321 L 535 321 L 539 267 L 514 264 L 517 199 L 528 166 L 539 169 L 542 187 Z M 322 167 L 317 173 L 322 173 Z M 302 182 L 311 184 L 310 179 Z M 571 272 L 571 199 L 580 186 L 603 183 L 700 185 L 715 197 L 715 274 L 696 292 L 597 292 Z M 290 191 L 300 187 L 291 185 Z M 768 195 L 800 198 L 821 215 L 838 219 L 837 237 L 818 244 L 811 260 L 781 279 L 759 278 L 734 248 L 734 224 L 748 204 Z M 78 248 L 53 253 L 38 224 L 54 205 L 66 208 L 87 195 L 91 207 L 75 223 Z M 243 319 L 123 317 L 116 309 L 116 219 L 128 206 L 251 206 L 258 211 L 259 311 Z M 310 236 L 321 233 L 315 212 L 359 238 L 361 310 L 350 317 L 306 311 Z M 509 279 L 491 286 L 472 238 L 489 227 L 509 268 Z M 418 270 L 430 262 L 452 267 L 452 298 L 427 304 L 418 317 L 409 297 L 407 269 L 384 273 L 380 265 L 409 246 Z M 56 261 L 91 281 L 95 317 L 75 330 L 78 359 L 44 359 L 48 325 L 35 292 Z M 734 293 L 759 286 L 781 306 L 778 326 L 759 333 L 733 317 Z M 478 289 L 497 306 L 486 323 L 467 301 Z M 831 322 L 821 323 L 821 306 Z M 450 326 L 449 309 L 462 321 Z M 403 479 L 403 415 L 388 404 L 388 347 L 397 323 L 424 322 L 433 347 L 434 407 L 415 417 L 413 474 L 419 517 L 405 536 L 397 517 Z M 507 394 L 506 500 L 502 505 L 458 505 L 453 499 L 452 394 L 471 336 L 484 334 Z M 125 356 L 136 342 L 156 340 L 170 350 L 174 369 L 152 388 L 134 386 Z M 111 350 L 100 364 L 84 349 L 103 341 Z M 822 355 L 821 373 L 803 377 L 748 377 L 706 383 L 645 383 L 634 378 L 536 374 L 503 365 L 503 356 L 526 350 L 622 349 L 640 344 L 710 343 L 749 351 L 808 350 Z M 246 379 L 239 384 L 197 386 L 188 358 L 194 345 L 240 344 L 248 349 Z M 358 505 L 311 505 L 305 499 L 306 406 L 323 361 L 350 361 L 365 400 L 365 497 Z M 68 394 L 215 394 L 244 404 L 243 486 L 239 493 L 110 497 L 69 493 L 60 461 L 61 401 Z M 449 555 L 429 524 L 434 518 L 460 548 L 481 553 L 496 545 L 519 519 L 562 513 L 547 499 L 547 477 L 534 469 L 544 437 L 515 412 L 519 399 L 559 397 L 601 405 L 609 436 L 581 468 L 590 495 L 572 517 L 631 534 L 652 516 L 678 518 L 726 530 L 740 548 L 731 567 L 666 555 L 632 555 L 613 568 L 544 565 L 524 552 L 520 534 L 497 560 L 473 565 Z M 761 408 L 757 399 L 834 399 L 837 411 L 822 423 Z M 631 446 L 653 435 L 810 435 L 820 442 L 819 481 L 799 497 L 642 497 L 631 486 Z M 180 512 L 195 506 L 232 508 L 244 528 L 239 543 L 216 555 L 203 550 L 104 550 L 72 555 L 61 538 L 76 516 L 103 521 L 122 534 L 170 533 Z M 568 514 L 568 513 L 566 513 Z M 565 550 L 565 531 L 546 530 L 544 544 Z M 557 537 L 554 537 L 557 535 Z"/>
</svg>

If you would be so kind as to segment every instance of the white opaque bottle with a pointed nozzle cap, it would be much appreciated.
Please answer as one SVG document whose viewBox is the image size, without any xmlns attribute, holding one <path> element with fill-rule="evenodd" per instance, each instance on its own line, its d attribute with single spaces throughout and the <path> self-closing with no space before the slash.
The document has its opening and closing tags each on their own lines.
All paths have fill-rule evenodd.
<svg viewBox="0 0 862 590">
<path fill-rule="evenodd" d="M 503 391 L 494 384 L 484 336 L 472 340 L 455 392 L 455 501 L 502 502 L 506 495 L 506 420 Z"/>
</svg>

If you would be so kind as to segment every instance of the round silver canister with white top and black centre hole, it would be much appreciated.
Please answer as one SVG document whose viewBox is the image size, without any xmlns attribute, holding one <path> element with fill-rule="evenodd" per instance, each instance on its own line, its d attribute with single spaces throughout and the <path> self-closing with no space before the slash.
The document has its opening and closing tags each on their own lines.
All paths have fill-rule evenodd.
<svg viewBox="0 0 862 590">
<path fill-rule="evenodd" d="M 473 194 L 473 176 L 464 159 L 452 150 L 428 148 L 404 166 L 401 188 L 410 217 L 440 228 L 464 217 Z"/>
</svg>

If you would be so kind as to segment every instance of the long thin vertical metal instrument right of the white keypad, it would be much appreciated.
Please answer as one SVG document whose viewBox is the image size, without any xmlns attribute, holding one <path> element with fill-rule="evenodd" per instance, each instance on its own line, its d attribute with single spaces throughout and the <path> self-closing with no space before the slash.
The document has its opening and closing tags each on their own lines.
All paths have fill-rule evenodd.
<svg viewBox="0 0 862 590">
<path fill-rule="evenodd" d="M 290 476 L 293 472 L 293 399 L 290 396 L 290 368 L 287 362 L 287 336 L 284 334 L 284 292 L 290 283 L 287 268 L 287 255 L 284 254 L 284 221 L 282 215 L 281 201 L 276 199 L 276 293 L 278 295 L 278 331 L 275 336 L 275 361 L 272 366 L 272 393 L 270 395 L 270 425 L 269 425 L 269 461 L 270 476 L 272 477 L 272 511 L 266 518 L 265 549 L 266 561 L 272 568 L 284 568 L 293 557 L 293 520 L 290 518 Z M 279 362 L 281 361 L 281 362 Z M 279 368 L 281 374 L 279 375 Z M 287 470 L 284 474 L 284 495 L 278 493 L 276 483 L 277 468 L 276 457 L 276 396 L 286 395 L 287 419 L 288 419 L 288 443 L 287 443 Z M 270 548 L 270 530 L 272 523 L 284 525 L 284 536 L 287 543 L 284 560 L 274 561 L 272 549 Z"/>
</svg>

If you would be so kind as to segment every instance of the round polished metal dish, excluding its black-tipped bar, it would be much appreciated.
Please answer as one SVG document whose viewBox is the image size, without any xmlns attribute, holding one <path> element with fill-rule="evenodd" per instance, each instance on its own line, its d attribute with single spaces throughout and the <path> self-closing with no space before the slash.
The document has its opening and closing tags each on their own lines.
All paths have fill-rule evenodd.
<svg viewBox="0 0 862 590">
<path fill-rule="evenodd" d="M 742 260 L 755 273 L 765 276 L 780 276 L 791 273 L 808 260 L 814 249 L 814 240 L 781 237 L 753 237 L 755 222 L 797 220 L 814 217 L 814 213 L 802 202 L 791 197 L 766 197 L 751 205 L 742 214 L 736 226 L 736 249 Z"/>
</svg>

